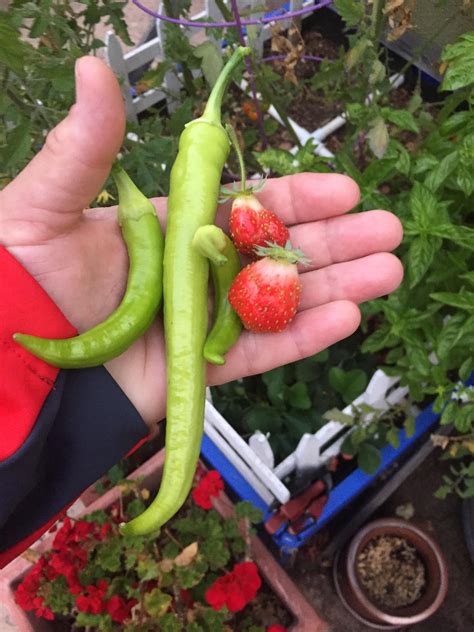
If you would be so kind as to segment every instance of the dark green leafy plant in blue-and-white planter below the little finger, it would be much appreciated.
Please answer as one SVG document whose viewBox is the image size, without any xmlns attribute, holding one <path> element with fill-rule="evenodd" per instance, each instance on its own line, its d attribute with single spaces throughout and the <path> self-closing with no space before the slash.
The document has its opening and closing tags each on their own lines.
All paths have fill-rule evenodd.
<svg viewBox="0 0 474 632">
<path fill-rule="evenodd" d="M 364 391 L 375 360 L 359 346 L 354 335 L 315 356 L 213 387 L 213 402 L 242 436 L 267 435 L 279 462 L 304 433 L 324 425 L 328 408 L 342 408 Z"/>
</svg>

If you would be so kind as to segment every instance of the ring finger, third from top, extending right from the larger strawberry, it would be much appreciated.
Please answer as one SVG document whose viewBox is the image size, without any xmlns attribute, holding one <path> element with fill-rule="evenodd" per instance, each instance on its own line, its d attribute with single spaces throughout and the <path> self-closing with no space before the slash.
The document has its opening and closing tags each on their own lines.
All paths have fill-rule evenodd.
<svg viewBox="0 0 474 632">
<path fill-rule="evenodd" d="M 300 275 L 303 286 L 300 310 L 347 300 L 363 303 L 397 289 L 403 279 L 399 259 L 381 252 L 355 261 L 335 263 Z"/>
</svg>

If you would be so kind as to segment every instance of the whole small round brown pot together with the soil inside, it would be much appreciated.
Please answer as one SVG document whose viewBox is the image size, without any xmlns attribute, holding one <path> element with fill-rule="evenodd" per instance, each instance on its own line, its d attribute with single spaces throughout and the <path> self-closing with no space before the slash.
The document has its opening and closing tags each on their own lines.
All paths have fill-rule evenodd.
<svg viewBox="0 0 474 632">
<path fill-rule="evenodd" d="M 438 544 L 419 526 L 374 520 L 336 555 L 333 577 L 344 606 L 370 628 L 400 629 L 432 616 L 448 590 Z"/>
</svg>

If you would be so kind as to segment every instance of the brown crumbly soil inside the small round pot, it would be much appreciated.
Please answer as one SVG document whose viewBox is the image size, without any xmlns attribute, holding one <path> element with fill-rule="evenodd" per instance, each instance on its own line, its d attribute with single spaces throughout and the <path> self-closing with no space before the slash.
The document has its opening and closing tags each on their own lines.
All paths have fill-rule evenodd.
<svg viewBox="0 0 474 632">
<path fill-rule="evenodd" d="M 356 570 L 367 597 L 381 608 L 411 605 L 426 586 L 425 566 L 417 550 L 398 536 L 370 540 L 357 556 Z"/>
</svg>

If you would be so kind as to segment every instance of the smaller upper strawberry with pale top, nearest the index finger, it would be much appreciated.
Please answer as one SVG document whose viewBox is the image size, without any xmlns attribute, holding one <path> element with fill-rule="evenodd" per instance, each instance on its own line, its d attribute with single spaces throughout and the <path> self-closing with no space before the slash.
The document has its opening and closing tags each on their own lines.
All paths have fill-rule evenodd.
<svg viewBox="0 0 474 632">
<path fill-rule="evenodd" d="M 237 250 L 253 259 L 257 258 L 256 246 L 263 247 L 269 241 L 284 246 L 289 237 L 281 219 L 251 193 L 238 195 L 232 202 L 230 234 Z"/>
</svg>

